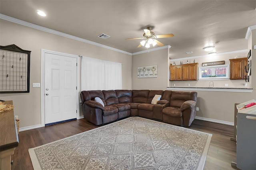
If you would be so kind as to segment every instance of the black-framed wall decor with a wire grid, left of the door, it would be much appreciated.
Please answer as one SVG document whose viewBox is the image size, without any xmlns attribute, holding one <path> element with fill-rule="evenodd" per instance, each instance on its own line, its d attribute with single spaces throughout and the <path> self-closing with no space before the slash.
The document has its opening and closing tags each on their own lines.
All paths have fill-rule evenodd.
<svg viewBox="0 0 256 170">
<path fill-rule="evenodd" d="M 0 46 L 0 93 L 28 93 L 30 53 L 12 44 Z"/>
</svg>

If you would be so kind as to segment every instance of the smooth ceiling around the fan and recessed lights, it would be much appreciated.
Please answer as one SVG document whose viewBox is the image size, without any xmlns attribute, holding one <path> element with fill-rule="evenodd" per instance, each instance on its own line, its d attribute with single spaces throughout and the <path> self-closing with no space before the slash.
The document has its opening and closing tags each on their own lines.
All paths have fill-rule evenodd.
<svg viewBox="0 0 256 170">
<path fill-rule="evenodd" d="M 206 55 L 208 45 L 217 53 L 247 49 L 255 9 L 256 0 L 0 0 L 1 14 L 129 53 L 146 49 L 137 48 L 140 39 L 125 39 L 142 37 L 148 26 L 156 35 L 173 33 L 158 39 L 172 46 L 173 59 Z M 110 38 L 99 38 L 101 33 Z"/>
</svg>

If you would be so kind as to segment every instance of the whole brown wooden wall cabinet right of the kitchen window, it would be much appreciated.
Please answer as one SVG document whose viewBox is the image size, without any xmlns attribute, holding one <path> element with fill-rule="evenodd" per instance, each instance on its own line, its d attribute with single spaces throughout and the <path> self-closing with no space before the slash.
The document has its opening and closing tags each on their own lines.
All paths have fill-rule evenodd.
<svg viewBox="0 0 256 170">
<path fill-rule="evenodd" d="M 248 65 L 247 57 L 230 60 L 230 80 L 242 80 L 247 76 L 245 66 Z"/>
</svg>

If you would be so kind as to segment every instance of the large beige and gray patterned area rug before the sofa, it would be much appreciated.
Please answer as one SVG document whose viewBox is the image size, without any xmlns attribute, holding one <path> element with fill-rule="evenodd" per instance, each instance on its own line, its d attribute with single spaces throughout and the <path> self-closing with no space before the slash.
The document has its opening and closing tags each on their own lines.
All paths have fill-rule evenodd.
<svg viewBox="0 0 256 170">
<path fill-rule="evenodd" d="M 130 117 L 29 149 L 29 153 L 35 170 L 200 170 L 211 137 Z"/>
</svg>

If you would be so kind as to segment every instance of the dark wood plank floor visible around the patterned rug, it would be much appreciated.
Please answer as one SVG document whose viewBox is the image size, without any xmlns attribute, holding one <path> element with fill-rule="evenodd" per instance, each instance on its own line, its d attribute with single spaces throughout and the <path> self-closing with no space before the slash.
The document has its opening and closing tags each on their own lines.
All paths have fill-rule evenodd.
<svg viewBox="0 0 256 170">
<path fill-rule="evenodd" d="M 38 147 L 65 137 L 69 137 L 98 126 L 79 119 L 47 127 L 41 127 L 19 133 L 19 146 L 12 156 L 12 170 L 33 170 L 28 153 L 29 148 Z M 236 162 L 236 143 L 230 141 L 233 137 L 233 126 L 194 120 L 190 129 L 211 133 L 212 139 L 208 150 L 204 170 L 234 170 L 230 165 Z"/>
</svg>

